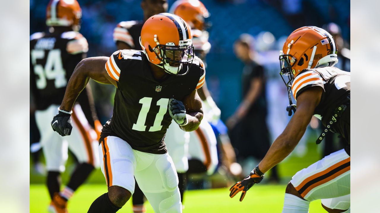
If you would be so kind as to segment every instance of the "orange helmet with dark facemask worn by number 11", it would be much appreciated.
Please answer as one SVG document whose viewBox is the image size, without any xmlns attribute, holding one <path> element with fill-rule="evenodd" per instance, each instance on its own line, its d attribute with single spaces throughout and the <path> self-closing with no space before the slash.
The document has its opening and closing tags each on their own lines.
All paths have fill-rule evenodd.
<svg viewBox="0 0 380 213">
<path fill-rule="evenodd" d="M 190 66 L 186 66 L 185 72 L 180 71 L 194 58 L 190 27 L 170 13 L 160 13 L 146 20 L 141 29 L 140 45 L 149 62 L 169 74 L 187 74 Z"/>
</svg>

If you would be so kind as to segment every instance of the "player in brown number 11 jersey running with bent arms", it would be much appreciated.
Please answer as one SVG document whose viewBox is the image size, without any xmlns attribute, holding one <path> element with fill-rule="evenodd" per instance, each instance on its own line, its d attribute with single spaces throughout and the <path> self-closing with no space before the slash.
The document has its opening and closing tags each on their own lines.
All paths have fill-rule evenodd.
<svg viewBox="0 0 380 213">
<path fill-rule="evenodd" d="M 177 128 L 193 131 L 203 118 L 196 90 L 206 71 L 190 38 L 184 20 L 160 13 L 142 26 L 142 51 L 87 58 L 74 70 L 61 111 L 51 122 L 61 136 L 71 133 L 70 111 L 89 78 L 117 88 L 112 119 L 103 126 L 99 145 L 108 193 L 92 203 L 89 213 L 118 211 L 133 194 L 135 178 L 155 212 L 182 212 L 164 138 L 172 119 Z"/>
</svg>

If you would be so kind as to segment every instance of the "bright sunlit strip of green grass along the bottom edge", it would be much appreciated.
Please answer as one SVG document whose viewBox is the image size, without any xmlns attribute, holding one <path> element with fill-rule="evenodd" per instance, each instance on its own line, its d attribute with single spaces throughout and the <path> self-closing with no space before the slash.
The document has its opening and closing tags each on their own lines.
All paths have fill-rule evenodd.
<svg viewBox="0 0 380 213">
<path fill-rule="evenodd" d="M 228 188 L 211 190 L 192 190 L 185 192 L 184 213 L 223 213 L 223 212 L 281 212 L 285 185 L 255 185 L 245 196 L 243 202 L 237 197 L 228 196 Z M 105 184 L 86 184 L 81 186 L 68 204 L 70 213 L 87 212 L 89 206 L 98 196 L 106 192 Z M 49 195 L 46 186 L 30 185 L 30 212 L 47 212 Z M 153 213 L 152 207 L 146 202 L 147 213 Z M 119 210 L 121 213 L 132 213 L 131 201 Z M 309 213 L 325 213 L 320 200 L 310 204 Z"/>
</svg>

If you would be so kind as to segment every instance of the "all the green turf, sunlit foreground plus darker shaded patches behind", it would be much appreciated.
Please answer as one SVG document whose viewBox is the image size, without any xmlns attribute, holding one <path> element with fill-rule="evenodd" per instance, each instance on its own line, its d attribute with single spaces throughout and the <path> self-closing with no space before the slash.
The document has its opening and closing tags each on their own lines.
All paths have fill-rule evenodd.
<svg viewBox="0 0 380 213">
<path fill-rule="evenodd" d="M 279 174 L 282 177 L 281 185 L 268 185 L 263 183 L 253 186 L 245 196 L 243 202 L 239 202 L 240 194 L 231 199 L 228 188 L 211 190 L 193 190 L 185 193 L 184 213 L 235 213 L 235 212 L 260 212 L 277 213 L 281 212 L 286 184 L 291 177 L 300 169 L 306 168 L 310 164 L 321 159 L 320 150 L 311 137 L 306 143 L 306 153 L 299 157 L 291 154 L 279 164 Z M 316 152 L 317 151 L 317 152 Z M 66 171 L 62 174 L 62 183 L 67 183 L 70 173 L 74 169 L 72 158 L 69 158 Z M 269 173 L 268 173 L 269 177 Z M 45 185 L 45 177 L 36 175 L 33 172 L 32 164 L 30 169 L 30 212 L 47 212 L 49 195 Z M 106 193 L 106 184 L 100 169 L 95 170 L 87 180 L 87 184 L 81 186 L 69 202 L 70 213 L 87 212 L 89 206 L 98 196 Z M 152 207 L 147 203 L 147 213 L 153 213 Z M 251 210 L 250 210 L 251 209 Z M 128 202 L 120 211 L 122 213 L 132 213 L 131 203 Z M 310 213 L 326 212 L 321 207 L 320 200 L 311 202 Z"/>
</svg>

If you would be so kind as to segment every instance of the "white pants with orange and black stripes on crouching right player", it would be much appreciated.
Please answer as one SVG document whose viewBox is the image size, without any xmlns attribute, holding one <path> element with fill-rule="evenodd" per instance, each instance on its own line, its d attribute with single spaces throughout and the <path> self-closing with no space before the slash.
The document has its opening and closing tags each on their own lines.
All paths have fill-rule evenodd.
<svg viewBox="0 0 380 213">
<path fill-rule="evenodd" d="M 308 201 L 322 199 L 328 208 L 350 207 L 350 156 L 344 149 L 297 172 L 290 183 Z"/>
</svg>

